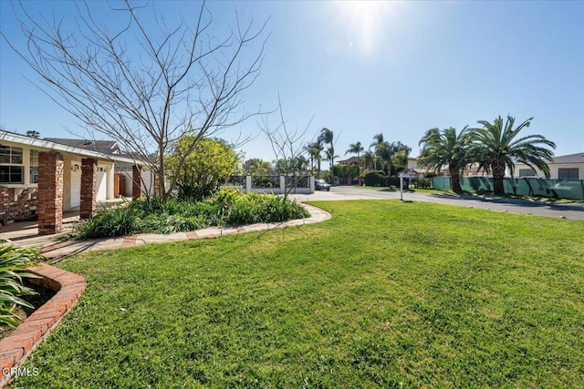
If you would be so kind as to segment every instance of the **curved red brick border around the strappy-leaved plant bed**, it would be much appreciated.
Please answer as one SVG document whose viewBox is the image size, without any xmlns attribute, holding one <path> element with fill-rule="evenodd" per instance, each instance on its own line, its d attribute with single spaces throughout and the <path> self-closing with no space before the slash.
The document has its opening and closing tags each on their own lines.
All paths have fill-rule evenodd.
<svg viewBox="0 0 584 389">
<path fill-rule="evenodd" d="M 43 341 L 85 292 L 87 283 L 78 274 L 41 264 L 27 271 L 41 276 L 33 282 L 42 284 L 57 293 L 28 316 L 9 336 L 0 341 L 0 388 L 12 379 L 11 368 L 26 361 L 28 355 Z M 7 374 L 6 374 L 7 373 Z"/>
</svg>

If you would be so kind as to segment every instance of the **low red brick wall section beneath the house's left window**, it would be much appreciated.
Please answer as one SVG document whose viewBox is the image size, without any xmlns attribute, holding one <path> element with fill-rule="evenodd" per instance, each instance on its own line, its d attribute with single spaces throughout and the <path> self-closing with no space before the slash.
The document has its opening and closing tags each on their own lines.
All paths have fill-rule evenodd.
<svg viewBox="0 0 584 389">
<path fill-rule="evenodd" d="M 22 190 L 0 187 L 0 223 L 26 220 L 34 216 L 36 216 L 36 188 Z"/>
</svg>

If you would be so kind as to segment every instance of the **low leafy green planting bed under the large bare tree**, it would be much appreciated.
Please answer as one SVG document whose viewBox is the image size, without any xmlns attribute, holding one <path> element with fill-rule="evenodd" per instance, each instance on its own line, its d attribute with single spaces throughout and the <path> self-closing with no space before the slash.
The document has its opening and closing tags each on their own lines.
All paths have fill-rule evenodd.
<svg viewBox="0 0 584 389">
<path fill-rule="evenodd" d="M 308 217 L 295 201 L 266 193 L 222 189 L 203 201 L 145 198 L 105 210 L 80 222 L 73 239 L 107 238 L 143 232 L 173 233 L 210 226 L 277 222 Z"/>
</svg>

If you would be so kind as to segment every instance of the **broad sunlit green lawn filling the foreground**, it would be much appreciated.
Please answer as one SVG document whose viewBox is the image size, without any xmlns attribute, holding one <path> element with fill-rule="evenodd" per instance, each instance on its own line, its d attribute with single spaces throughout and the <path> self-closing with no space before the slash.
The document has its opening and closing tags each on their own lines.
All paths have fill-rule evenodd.
<svg viewBox="0 0 584 389">
<path fill-rule="evenodd" d="M 79 255 L 23 387 L 579 387 L 584 223 L 397 200 Z"/>
</svg>

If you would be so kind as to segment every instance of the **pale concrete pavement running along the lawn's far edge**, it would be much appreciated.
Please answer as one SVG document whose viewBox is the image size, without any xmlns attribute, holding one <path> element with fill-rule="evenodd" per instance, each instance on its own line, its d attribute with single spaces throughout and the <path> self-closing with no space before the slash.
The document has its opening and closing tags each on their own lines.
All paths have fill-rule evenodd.
<svg viewBox="0 0 584 389">
<path fill-rule="evenodd" d="M 388 200 L 400 199 L 400 191 L 393 189 L 362 189 L 359 187 L 333 187 L 329 192 L 316 191 L 312 195 L 291 195 L 300 201 L 311 200 Z M 404 192 L 403 200 L 433 202 L 459 207 L 516 212 L 549 218 L 566 218 L 584 221 L 584 203 L 554 203 L 505 198 L 487 198 L 473 195 L 454 195 L 446 192 Z"/>
</svg>

